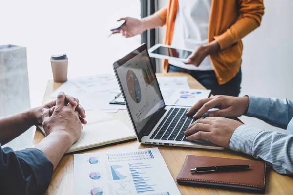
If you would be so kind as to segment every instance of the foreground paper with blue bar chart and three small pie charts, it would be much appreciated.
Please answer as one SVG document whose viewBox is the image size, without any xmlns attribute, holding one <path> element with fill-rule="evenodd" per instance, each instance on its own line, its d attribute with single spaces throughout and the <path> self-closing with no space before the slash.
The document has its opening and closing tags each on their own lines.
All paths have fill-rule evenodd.
<svg viewBox="0 0 293 195">
<path fill-rule="evenodd" d="M 180 195 L 158 148 L 74 155 L 75 195 Z"/>
</svg>

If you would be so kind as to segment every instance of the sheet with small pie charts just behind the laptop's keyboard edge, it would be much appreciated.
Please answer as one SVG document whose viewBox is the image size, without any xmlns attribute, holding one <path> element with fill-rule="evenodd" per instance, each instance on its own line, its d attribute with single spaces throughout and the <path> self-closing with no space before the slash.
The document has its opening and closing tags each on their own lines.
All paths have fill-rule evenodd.
<svg viewBox="0 0 293 195">
<path fill-rule="evenodd" d="M 162 95 L 166 105 L 193 106 L 199 100 L 208 98 L 211 90 L 200 89 L 163 89 Z"/>
</svg>

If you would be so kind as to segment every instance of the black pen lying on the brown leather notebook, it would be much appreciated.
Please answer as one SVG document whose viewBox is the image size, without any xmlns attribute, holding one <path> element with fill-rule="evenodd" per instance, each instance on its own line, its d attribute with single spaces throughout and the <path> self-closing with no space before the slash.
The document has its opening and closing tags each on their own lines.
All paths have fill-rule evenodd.
<svg viewBox="0 0 293 195">
<path fill-rule="evenodd" d="M 251 165 L 226 165 L 226 166 L 212 166 L 212 167 L 196 167 L 190 169 L 191 172 L 196 173 L 210 173 L 217 171 L 236 171 L 252 167 Z"/>
</svg>

